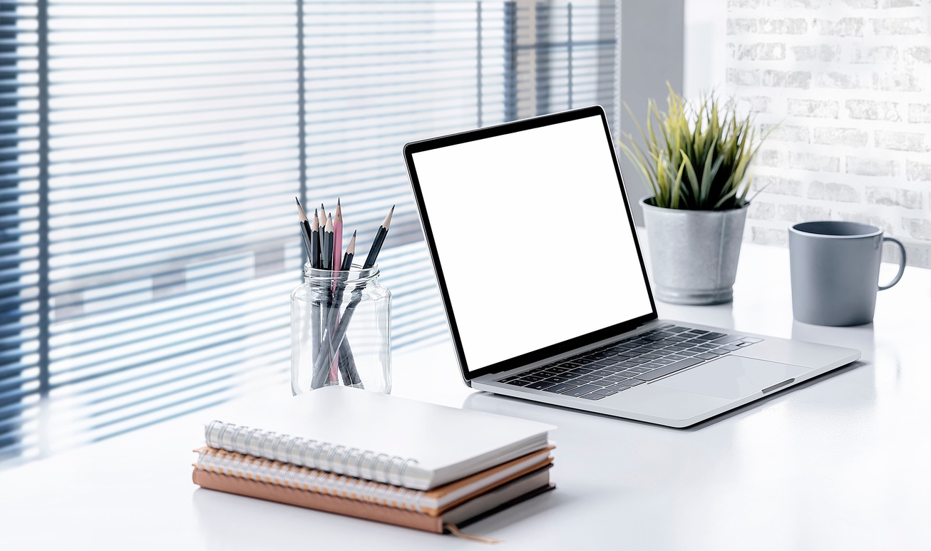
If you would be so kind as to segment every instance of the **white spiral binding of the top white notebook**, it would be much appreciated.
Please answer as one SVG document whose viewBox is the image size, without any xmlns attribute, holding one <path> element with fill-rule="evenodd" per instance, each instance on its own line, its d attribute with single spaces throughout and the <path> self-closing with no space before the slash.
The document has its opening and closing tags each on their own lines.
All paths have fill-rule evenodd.
<svg viewBox="0 0 931 551">
<path fill-rule="evenodd" d="M 347 449 L 330 442 L 279 435 L 272 431 L 220 421 L 207 424 L 204 436 L 210 448 L 394 486 L 405 486 L 405 472 L 412 464 L 417 464 L 415 459 L 404 459 L 397 455 L 358 448 Z"/>
</svg>

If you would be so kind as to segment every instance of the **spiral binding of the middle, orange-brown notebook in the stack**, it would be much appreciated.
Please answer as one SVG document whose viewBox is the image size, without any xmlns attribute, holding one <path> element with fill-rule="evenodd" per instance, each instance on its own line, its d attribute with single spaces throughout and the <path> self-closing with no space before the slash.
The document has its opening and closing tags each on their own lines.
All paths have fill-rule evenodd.
<svg viewBox="0 0 931 551">
<path fill-rule="evenodd" d="M 246 478 L 296 490 L 385 505 L 423 513 L 423 491 L 336 475 L 295 464 L 253 457 L 226 450 L 200 450 L 196 468 L 228 477 Z"/>
</svg>

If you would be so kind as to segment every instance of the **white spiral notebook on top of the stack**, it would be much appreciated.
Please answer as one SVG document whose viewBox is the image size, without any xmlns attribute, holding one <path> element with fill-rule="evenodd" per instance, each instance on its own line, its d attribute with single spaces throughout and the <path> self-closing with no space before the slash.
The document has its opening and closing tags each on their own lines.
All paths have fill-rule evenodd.
<svg viewBox="0 0 931 551">
<path fill-rule="evenodd" d="M 205 427 L 207 445 L 430 490 L 548 446 L 556 427 L 327 386 Z"/>
</svg>

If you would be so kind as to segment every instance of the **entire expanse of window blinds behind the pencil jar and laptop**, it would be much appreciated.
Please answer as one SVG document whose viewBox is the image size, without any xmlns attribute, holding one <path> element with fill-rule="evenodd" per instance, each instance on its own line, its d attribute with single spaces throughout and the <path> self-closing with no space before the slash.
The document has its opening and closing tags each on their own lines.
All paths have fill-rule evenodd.
<svg viewBox="0 0 931 551">
<path fill-rule="evenodd" d="M 295 195 L 366 246 L 397 204 L 393 344 L 446 338 L 401 146 L 610 116 L 614 34 L 611 3 L 0 4 L 0 457 L 287 384 Z"/>
</svg>

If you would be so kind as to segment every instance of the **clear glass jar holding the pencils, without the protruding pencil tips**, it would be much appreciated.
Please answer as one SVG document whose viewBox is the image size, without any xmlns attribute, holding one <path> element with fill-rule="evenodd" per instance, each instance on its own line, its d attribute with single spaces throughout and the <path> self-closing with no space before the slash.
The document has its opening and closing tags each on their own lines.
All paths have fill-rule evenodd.
<svg viewBox="0 0 931 551">
<path fill-rule="evenodd" d="M 304 264 L 291 292 L 291 392 L 344 384 L 391 392 L 391 291 L 378 266 L 345 271 Z"/>
</svg>

